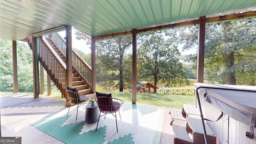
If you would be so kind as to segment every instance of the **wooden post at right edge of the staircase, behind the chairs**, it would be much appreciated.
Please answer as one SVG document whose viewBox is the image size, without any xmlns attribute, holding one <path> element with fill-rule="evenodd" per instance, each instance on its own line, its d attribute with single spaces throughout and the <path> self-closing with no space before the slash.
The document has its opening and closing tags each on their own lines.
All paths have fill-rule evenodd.
<svg viewBox="0 0 256 144">
<path fill-rule="evenodd" d="M 92 93 L 96 92 L 96 49 L 95 49 L 95 37 L 91 38 L 92 49 Z"/>
</svg>

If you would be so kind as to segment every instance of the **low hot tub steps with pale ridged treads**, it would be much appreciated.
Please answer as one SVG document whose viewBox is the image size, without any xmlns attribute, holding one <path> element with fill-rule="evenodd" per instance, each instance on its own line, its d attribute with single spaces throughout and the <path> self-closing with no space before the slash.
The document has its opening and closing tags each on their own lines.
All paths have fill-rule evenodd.
<svg viewBox="0 0 256 144">
<path fill-rule="evenodd" d="M 182 110 L 170 110 L 174 144 L 205 144 L 200 112 L 194 105 L 184 104 Z M 216 144 L 216 136 L 204 122 L 209 144 Z"/>
</svg>

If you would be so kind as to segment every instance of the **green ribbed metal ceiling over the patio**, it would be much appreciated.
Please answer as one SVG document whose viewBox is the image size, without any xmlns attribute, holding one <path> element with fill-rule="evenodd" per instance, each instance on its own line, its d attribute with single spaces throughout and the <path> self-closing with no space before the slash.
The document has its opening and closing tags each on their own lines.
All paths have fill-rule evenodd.
<svg viewBox="0 0 256 144">
<path fill-rule="evenodd" d="M 256 9 L 256 0 L 0 0 L 0 38 L 63 25 L 90 36 Z"/>
</svg>

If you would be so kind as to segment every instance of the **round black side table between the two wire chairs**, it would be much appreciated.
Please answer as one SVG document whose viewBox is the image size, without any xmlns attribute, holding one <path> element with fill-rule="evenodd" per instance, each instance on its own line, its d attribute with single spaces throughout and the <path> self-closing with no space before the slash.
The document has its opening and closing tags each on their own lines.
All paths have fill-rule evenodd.
<svg viewBox="0 0 256 144">
<path fill-rule="evenodd" d="M 97 103 L 95 102 L 94 106 L 91 104 L 86 104 L 85 107 L 85 121 L 88 123 L 97 122 L 100 115 L 100 109 Z"/>
</svg>

